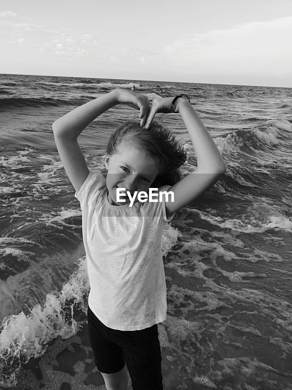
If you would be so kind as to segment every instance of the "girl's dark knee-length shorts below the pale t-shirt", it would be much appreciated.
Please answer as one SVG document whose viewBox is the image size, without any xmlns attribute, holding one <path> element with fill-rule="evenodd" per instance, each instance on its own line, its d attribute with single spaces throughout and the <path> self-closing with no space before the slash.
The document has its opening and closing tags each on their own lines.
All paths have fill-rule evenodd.
<svg viewBox="0 0 292 390">
<path fill-rule="evenodd" d="M 157 324 L 142 330 L 123 331 L 105 326 L 90 307 L 87 316 L 89 340 L 100 372 L 119 372 L 126 361 L 133 390 L 163 390 Z"/>
</svg>

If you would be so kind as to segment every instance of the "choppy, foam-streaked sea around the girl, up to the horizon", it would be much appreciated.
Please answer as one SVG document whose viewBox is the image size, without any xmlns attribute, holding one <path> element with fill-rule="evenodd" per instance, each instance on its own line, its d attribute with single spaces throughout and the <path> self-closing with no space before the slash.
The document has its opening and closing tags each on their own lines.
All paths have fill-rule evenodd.
<svg viewBox="0 0 292 390">
<path fill-rule="evenodd" d="M 165 227 L 165 390 L 292 389 L 292 89 L 0 74 L 0 388 L 105 389 L 87 338 L 81 209 L 52 124 L 116 88 L 187 94 L 227 170 Z M 158 114 L 197 167 L 179 114 Z M 117 105 L 78 141 L 106 175 Z M 129 378 L 130 384 L 130 378 Z M 132 389 L 132 387 L 131 387 Z M 150 389 L 151 390 L 151 389 Z"/>
</svg>

